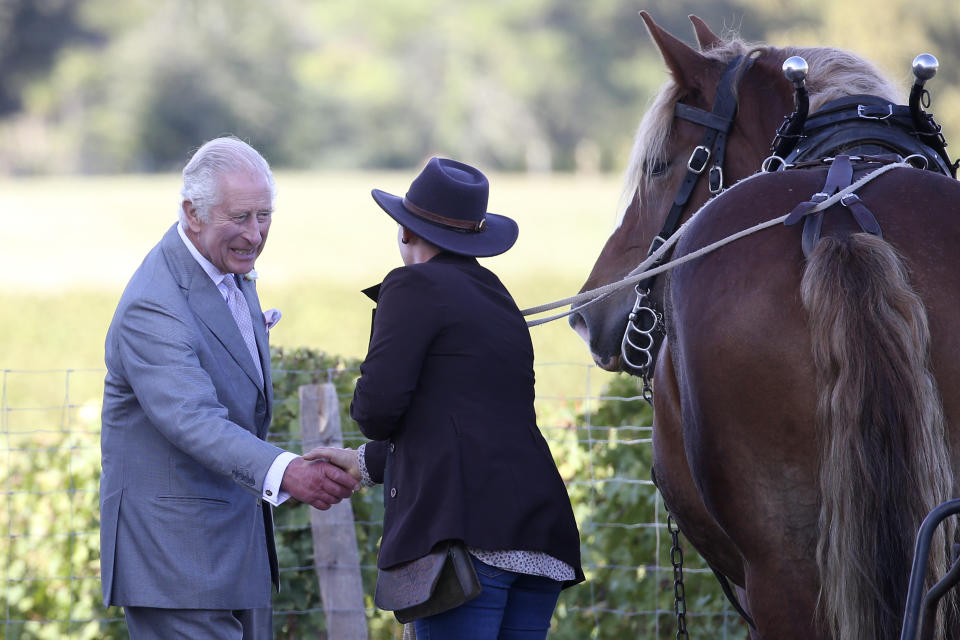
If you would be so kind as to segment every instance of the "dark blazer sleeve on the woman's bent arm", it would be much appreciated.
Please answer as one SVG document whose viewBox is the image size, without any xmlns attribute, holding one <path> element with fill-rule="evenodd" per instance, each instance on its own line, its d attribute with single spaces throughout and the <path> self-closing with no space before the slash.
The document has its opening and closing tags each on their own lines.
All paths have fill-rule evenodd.
<svg viewBox="0 0 960 640">
<path fill-rule="evenodd" d="M 394 269 L 380 286 L 370 349 L 350 404 L 350 416 L 371 440 L 386 440 L 400 427 L 442 328 L 444 296 L 417 266 Z"/>
</svg>

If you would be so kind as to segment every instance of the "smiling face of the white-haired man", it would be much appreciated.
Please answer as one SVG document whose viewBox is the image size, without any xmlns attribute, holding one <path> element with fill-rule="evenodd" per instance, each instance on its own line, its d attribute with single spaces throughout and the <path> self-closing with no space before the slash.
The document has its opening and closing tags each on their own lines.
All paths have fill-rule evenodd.
<svg viewBox="0 0 960 640">
<path fill-rule="evenodd" d="M 220 178 L 220 204 L 201 222 L 184 202 L 188 236 L 204 258 L 223 273 L 247 273 L 263 251 L 273 214 L 270 185 L 259 173 L 229 173 Z"/>
</svg>

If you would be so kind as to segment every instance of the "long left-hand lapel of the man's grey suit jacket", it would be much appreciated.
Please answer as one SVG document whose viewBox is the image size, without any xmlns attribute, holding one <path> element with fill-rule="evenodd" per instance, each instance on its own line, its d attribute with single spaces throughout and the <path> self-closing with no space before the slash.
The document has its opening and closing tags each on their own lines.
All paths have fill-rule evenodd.
<svg viewBox="0 0 960 640">
<path fill-rule="evenodd" d="M 247 345 L 240 335 L 240 329 L 230 313 L 230 308 L 213 284 L 210 276 L 200 267 L 187 248 L 183 246 L 183 240 L 177 233 L 177 227 L 174 225 L 167 231 L 161 242 L 164 255 L 167 256 L 167 264 L 170 271 L 176 278 L 177 283 L 186 291 L 187 303 L 197 318 L 206 325 L 210 332 L 216 336 L 217 340 L 227 349 L 231 357 L 237 362 L 253 385 L 263 393 L 260 387 L 260 376 L 250 359 L 250 352 Z M 247 295 L 249 304 L 250 297 Z M 259 308 L 259 305 L 257 305 Z M 263 324 L 263 315 L 260 315 L 260 324 Z M 254 333 L 257 332 L 257 322 L 253 323 Z M 262 328 L 261 328 L 262 330 Z M 257 346 L 260 347 L 260 338 L 257 337 Z M 262 354 L 262 349 L 260 349 Z M 262 355 L 261 355 L 262 361 Z M 268 367 L 269 368 L 269 367 Z M 264 377 L 267 373 L 264 370 Z"/>
</svg>

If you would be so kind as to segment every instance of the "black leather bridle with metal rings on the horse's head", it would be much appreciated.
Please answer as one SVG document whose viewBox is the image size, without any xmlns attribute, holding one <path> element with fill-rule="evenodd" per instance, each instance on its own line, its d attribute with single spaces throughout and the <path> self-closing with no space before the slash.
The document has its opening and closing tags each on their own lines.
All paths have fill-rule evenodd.
<svg viewBox="0 0 960 640">
<path fill-rule="evenodd" d="M 683 182 L 680 183 L 680 188 L 677 190 L 677 195 L 673 199 L 660 232 L 650 243 L 650 248 L 647 250 L 648 258 L 676 233 L 690 196 L 705 171 L 711 196 L 724 189 L 723 160 L 727 149 L 727 134 L 733 126 L 737 113 L 736 82 L 752 64 L 753 59 L 747 58 L 744 65 L 741 65 L 742 61 L 743 56 L 738 55 L 727 63 L 723 75 L 720 76 L 711 111 L 680 102 L 674 105 L 674 117 L 699 124 L 704 127 L 704 132 L 700 138 L 700 144 L 693 149 L 687 159 L 687 173 Z M 708 165 L 709 171 L 707 171 Z M 651 265 L 651 268 L 659 266 L 668 258 L 669 256 L 664 254 Z M 621 366 L 627 373 L 643 380 L 643 396 L 648 402 L 653 397 L 650 389 L 650 375 L 653 373 L 657 352 L 664 337 L 663 314 L 650 298 L 656 277 L 652 275 L 636 284 L 637 299 L 630 311 L 627 328 L 620 344 Z"/>
</svg>

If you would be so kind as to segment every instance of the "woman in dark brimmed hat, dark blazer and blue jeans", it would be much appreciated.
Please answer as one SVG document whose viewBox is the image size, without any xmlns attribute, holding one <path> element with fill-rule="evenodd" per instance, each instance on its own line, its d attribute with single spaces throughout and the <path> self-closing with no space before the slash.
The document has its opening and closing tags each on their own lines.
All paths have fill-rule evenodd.
<svg viewBox="0 0 960 640">
<path fill-rule="evenodd" d="M 351 416 L 372 440 L 366 483 L 384 483 L 378 566 L 465 545 L 482 591 L 417 620 L 417 637 L 546 637 L 562 588 L 583 578 L 563 480 L 534 412 L 533 345 L 520 310 L 477 257 L 509 249 L 477 169 L 433 158 L 406 196 L 373 198 L 400 225 L 404 265 L 379 287 Z"/>
</svg>

